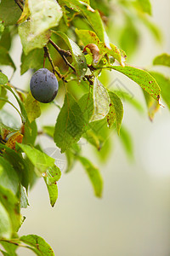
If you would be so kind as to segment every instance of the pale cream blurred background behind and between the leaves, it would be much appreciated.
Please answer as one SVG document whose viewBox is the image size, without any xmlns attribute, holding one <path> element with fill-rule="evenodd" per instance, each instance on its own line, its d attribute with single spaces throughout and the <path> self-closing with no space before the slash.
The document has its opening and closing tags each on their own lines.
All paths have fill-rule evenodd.
<svg viewBox="0 0 170 256">
<path fill-rule="evenodd" d="M 163 43 L 156 44 L 141 26 L 143 38 L 131 59 L 139 67 L 148 67 L 156 55 L 170 53 L 170 2 L 155 0 L 152 4 L 153 20 L 161 28 Z M 111 38 L 115 43 L 114 34 Z M 24 88 L 30 73 L 20 77 L 20 38 L 14 40 L 11 55 L 18 71 L 12 83 Z M 5 73 L 8 72 L 6 68 Z M 163 72 L 168 73 L 168 68 Z M 117 78 L 145 104 L 138 85 L 122 75 Z M 110 82 L 114 79 L 116 74 L 110 73 Z M 84 155 L 99 166 L 104 177 L 102 199 L 94 197 L 82 166 L 77 164 L 72 172 L 65 174 L 65 157 L 47 137 L 39 138 L 42 147 L 48 154 L 54 154 L 63 170 L 59 199 L 54 208 L 50 207 L 48 191 L 39 179 L 29 194 L 30 207 L 22 211 L 26 221 L 20 236 L 42 236 L 59 256 L 170 255 L 170 113 L 167 108 L 161 108 L 151 123 L 146 108 L 144 114 L 139 114 L 124 103 L 123 123 L 132 134 L 134 161 L 127 158 L 116 137 L 109 138 L 113 150 L 105 164 L 97 160 L 88 143 L 82 142 Z M 50 125 L 56 116 L 56 111 L 44 114 L 39 123 Z M 19 255 L 34 254 L 20 248 Z"/>
</svg>

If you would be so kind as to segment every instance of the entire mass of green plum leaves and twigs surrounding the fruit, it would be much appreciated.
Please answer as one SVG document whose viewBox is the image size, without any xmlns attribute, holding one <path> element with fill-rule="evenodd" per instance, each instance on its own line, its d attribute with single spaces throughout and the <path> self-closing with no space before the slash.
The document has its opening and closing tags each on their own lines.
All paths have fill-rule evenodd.
<svg viewBox="0 0 170 256">
<path fill-rule="evenodd" d="M 59 107 L 59 115 L 54 125 L 43 126 L 41 131 L 37 131 L 37 118 L 43 104 L 37 102 L 30 92 L 17 90 L 11 79 L 0 73 L 0 243 L 3 246 L 0 250 L 3 255 L 16 255 L 15 250 L 19 246 L 29 247 L 37 255 L 54 255 L 41 237 L 17 236 L 25 219 L 20 208 L 28 206 L 27 193 L 35 177 L 44 179 L 52 207 L 58 197 L 57 182 L 61 172 L 55 160 L 37 144 L 37 136 L 47 134 L 54 139 L 56 147 L 65 153 L 66 172 L 70 172 L 79 161 L 98 197 L 102 195 L 102 177 L 99 169 L 82 156 L 80 139 L 85 138 L 105 159 L 106 149 L 111 146 L 108 137 L 116 131 L 121 134 L 127 153 L 132 151 L 127 130 L 121 128 L 122 99 L 126 98 L 139 111 L 142 108 L 126 92 L 108 90 L 106 84 L 99 80 L 103 70 L 122 73 L 139 84 L 144 91 L 150 119 L 159 108 L 160 93 L 170 108 L 169 79 L 161 73 L 128 66 L 125 52 L 110 43 L 105 30 L 111 26 L 108 23 L 112 6 L 121 10 L 128 21 L 120 40 L 125 49 L 130 51 L 130 46 L 137 44 L 137 30 L 131 20 L 133 16 L 144 20 L 158 37 L 156 27 L 147 18 L 147 14 L 151 14 L 150 1 L 119 1 L 115 6 L 111 0 L 96 0 L 91 6 L 89 4 L 88 0 L 2 0 L 0 3 L 0 65 L 9 66 L 15 72 L 16 67 L 8 51 L 14 36 L 19 34 L 23 47 L 20 74 L 44 67 L 48 58 L 45 67 L 59 78 L 60 95 L 64 97 L 61 108 L 55 104 Z M 129 31 L 133 34 L 127 38 L 133 44 L 130 41 L 125 45 Z M 169 66 L 169 63 L 170 56 L 161 55 L 153 64 Z M 17 107 L 8 100 L 8 94 L 14 96 Z M 20 123 L 3 109 L 4 104 L 15 109 L 20 115 Z M 48 104 L 48 108 L 51 106 Z"/>
</svg>

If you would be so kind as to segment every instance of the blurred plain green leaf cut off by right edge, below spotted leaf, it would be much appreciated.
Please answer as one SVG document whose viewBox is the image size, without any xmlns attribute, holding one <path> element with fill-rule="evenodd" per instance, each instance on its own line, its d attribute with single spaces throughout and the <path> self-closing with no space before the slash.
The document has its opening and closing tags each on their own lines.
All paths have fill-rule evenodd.
<svg viewBox="0 0 170 256">
<path fill-rule="evenodd" d="M 151 71 L 150 75 L 156 79 L 156 82 L 159 84 L 161 88 L 161 96 L 166 102 L 167 107 L 170 109 L 170 79 L 158 72 Z"/>
</svg>

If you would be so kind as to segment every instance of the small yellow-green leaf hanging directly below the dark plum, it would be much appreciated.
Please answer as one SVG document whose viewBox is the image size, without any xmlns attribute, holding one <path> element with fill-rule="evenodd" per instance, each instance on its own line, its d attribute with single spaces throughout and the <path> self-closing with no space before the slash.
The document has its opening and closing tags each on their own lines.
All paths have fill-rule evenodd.
<svg viewBox="0 0 170 256">
<path fill-rule="evenodd" d="M 25 108 L 30 123 L 41 115 L 40 103 L 31 95 L 31 92 L 26 97 Z"/>
</svg>

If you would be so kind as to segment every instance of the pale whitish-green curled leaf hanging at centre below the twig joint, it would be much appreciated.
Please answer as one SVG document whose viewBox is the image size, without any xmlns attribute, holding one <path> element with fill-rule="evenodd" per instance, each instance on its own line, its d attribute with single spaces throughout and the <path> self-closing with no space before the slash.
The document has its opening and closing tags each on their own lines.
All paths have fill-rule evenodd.
<svg viewBox="0 0 170 256">
<path fill-rule="evenodd" d="M 91 122 L 104 119 L 110 110 L 110 96 L 99 79 L 94 79 L 94 114 L 90 119 Z"/>
</svg>

